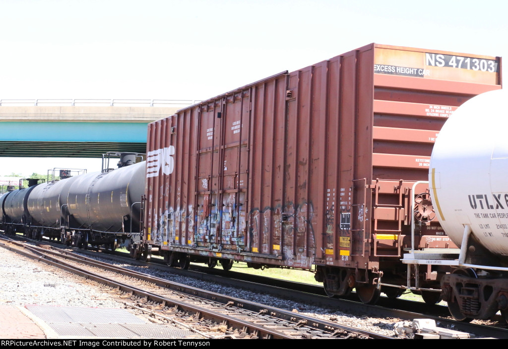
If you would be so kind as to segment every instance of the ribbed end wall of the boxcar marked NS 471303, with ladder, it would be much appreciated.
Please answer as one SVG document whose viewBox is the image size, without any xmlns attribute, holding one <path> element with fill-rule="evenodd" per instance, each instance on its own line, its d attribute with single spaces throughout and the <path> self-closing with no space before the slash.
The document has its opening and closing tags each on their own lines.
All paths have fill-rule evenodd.
<svg viewBox="0 0 508 349">
<path fill-rule="evenodd" d="M 416 248 L 454 247 L 438 223 L 428 221 L 427 184 L 413 185 L 427 180 L 432 147 L 448 116 L 501 83 L 495 57 L 375 45 L 373 65 L 373 114 L 366 116 L 372 123 L 369 268 L 411 247 L 413 219 Z"/>
</svg>

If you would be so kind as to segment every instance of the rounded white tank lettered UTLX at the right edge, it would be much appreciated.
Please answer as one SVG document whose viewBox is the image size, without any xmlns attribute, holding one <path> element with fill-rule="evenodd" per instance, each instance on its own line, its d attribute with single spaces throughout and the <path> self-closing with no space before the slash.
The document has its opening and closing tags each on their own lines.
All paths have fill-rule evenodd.
<svg viewBox="0 0 508 349">
<path fill-rule="evenodd" d="M 446 121 L 430 160 L 441 226 L 458 246 L 465 227 L 495 255 L 508 255 L 508 91 L 480 94 Z"/>
</svg>

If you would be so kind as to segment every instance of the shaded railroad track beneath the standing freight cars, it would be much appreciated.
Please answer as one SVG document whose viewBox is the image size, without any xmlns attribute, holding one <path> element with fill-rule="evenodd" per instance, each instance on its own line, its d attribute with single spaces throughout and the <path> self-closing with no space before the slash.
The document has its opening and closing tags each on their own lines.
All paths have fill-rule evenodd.
<svg viewBox="0 0 508 349">
<path fill-rule="evenodd" d="M 39 241 L 34 242 L 40 243 Z M 49 242 L 44 241 L 44 243 L 47 244 Z M 54 244 L 53 246 L 61 247 L 59 244 Z M 355 301 L 354 296 L 348 299 L 323 297 L 323 288 L 316 285 L 301 284 L 298 282 L 254 276 L 233 271 L 224 272 L 219 268 L 210 269 L 208 267 L 193 266 L 193 270 L 182 270 L 170 268 L 162 260 L 158 261 L 153 258 L 150 263 L 135 261 L 128 257 L 122 257 L 122 255 L 127 255 L 122 252 L 111 253 L 111 251 L 109 251 L 108 253 L 98 253 L 93 250 L 73 249 L 81 255 L 85 254 L 90 257 L 100 256 L 101 258 L 111 259 L 119 263 L 128 263 L 144 267 L 149 266 L 151 268 L 155 267 L 172 274 L 193 277 L 216 284 L 230 285 L 234 288 L 255 289 L 257 292 L 278 295 L 282 298 L 298 300 L 307 304 L 313 303 L 330 309 L 340 309 L 344 312 L 360 314 L 360 316 L 363 314 L 369 317 L 393 318 L 405 321 L 427 318 L 434 320 L 439 327 L 471 333 L 477 337 L 508 338 L 508 330 L 503 328 L 503 326 L 505 326 L 504 324 L 499 323 L 496 326 L 492 326 L 492 324 L 483 325 L 478 323 L 467 324 L 457 322 L 449 316 L 446 306 L 428 306 L 422 302 L 405 301 L 401 299 L 389 300 L 383 297 L 378 302 L 378 305 L 365 305 Z M 213 274 L 210 274 L 210 272 L 213 272 Z M 253 311 L 255 310 L 256 309 Z M 395 321 L 396 320 L 394 320 L 394 322 Z"/>
</svg>

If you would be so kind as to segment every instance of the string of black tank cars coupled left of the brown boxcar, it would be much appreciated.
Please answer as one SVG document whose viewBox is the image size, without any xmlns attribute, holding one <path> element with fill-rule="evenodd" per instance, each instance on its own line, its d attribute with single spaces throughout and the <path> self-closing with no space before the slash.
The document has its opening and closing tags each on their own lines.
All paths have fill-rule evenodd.
<svg viewBox="0 0 508 349">
<path fill-rule="evenodd" d="M 121 153 L 114 171 L 106 167 L 70 176 L 70 171 L 63 170 L 60 180 L 39 184 L 37 179 L 29 180 L 27 188 L 0 196 L 0 229 L 82 248 L 115 249 L 133 239 L 133 232 L 139 237 L 145 162 L 134 164 L 136 157 Z M 109 156 L 105 162 L 109 164 Z"/>
</svg>

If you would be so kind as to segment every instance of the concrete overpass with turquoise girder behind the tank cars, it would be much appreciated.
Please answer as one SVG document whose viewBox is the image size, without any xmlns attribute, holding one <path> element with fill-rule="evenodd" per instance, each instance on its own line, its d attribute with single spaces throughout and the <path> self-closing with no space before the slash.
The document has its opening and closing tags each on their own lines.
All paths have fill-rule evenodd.
<svg viewBox="0 0 508 349">
<path fill-rule="evenodd" d="M 146 152 L 147 124 L 200 101 L 0 100 L 0 157 Z"/>
</svg>

